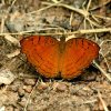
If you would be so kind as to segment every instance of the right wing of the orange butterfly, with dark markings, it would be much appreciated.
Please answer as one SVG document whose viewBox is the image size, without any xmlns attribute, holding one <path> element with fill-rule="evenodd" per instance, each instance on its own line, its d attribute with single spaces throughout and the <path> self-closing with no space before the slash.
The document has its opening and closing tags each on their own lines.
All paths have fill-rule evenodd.
<svg viewBox="0 0 111 111">
<path fill-rule="evenodd" d="M 73 79 L 79 75 L 99 56 L 99 49 L 97 43 L 83 38 L 68 40 L 62 58 L 61 77 Z"/>
</svg>

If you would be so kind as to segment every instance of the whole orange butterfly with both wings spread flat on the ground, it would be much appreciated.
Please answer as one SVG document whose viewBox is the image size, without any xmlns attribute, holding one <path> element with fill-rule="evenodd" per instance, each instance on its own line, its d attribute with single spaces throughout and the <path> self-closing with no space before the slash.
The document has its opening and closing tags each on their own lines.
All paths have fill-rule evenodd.
<svg viewBox="0 0 111 111">
<path fill-rule="evenodd" d="M 73 79 L 99 56 L 99 46 L 88 39 L 74 38 L 65 42 L 51 37 L 32 36 L 22 39 L 21 51 L 46 78 Z"/>
</svg>

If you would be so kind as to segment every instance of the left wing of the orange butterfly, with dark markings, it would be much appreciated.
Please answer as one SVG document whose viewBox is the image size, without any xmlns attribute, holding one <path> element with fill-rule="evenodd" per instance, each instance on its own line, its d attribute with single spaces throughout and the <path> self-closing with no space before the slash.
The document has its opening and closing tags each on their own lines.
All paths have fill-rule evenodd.
<svg viewBox="0 0 111 111">
<path fill-rule="evenodd" d="M 47 78 L 58 77 L 59 41 L 51 37 L 32 36 L 22 39 L 21 51 L 38 72 Z"/>
</svg>

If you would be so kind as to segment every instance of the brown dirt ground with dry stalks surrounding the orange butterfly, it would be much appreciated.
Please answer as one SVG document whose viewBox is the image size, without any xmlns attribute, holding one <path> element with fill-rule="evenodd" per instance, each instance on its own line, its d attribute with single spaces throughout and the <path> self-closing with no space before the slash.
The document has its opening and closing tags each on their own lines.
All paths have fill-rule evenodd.
<svg viewBox="0 0 111 111">
<path fill-rule="evenodd" d="M 0 111 L 111 111 L 111 0 L 0 0 Z M 99 67 L 71 81 L 41 77 L 20 52 L 23 37 L 70 32 L 100 46 Z"/>
</svg>

